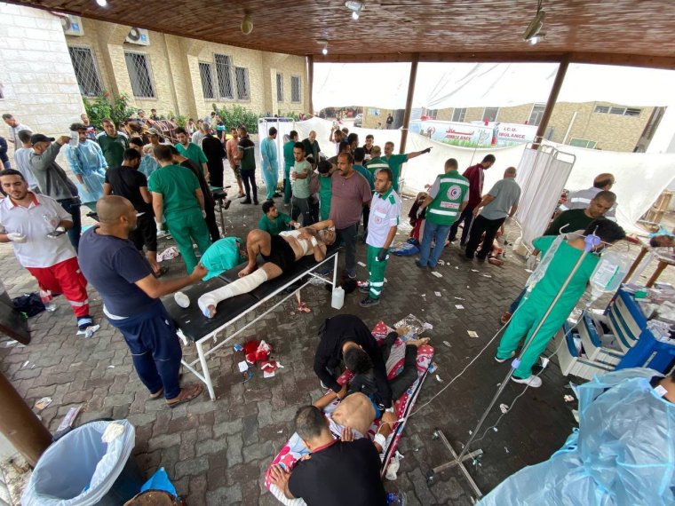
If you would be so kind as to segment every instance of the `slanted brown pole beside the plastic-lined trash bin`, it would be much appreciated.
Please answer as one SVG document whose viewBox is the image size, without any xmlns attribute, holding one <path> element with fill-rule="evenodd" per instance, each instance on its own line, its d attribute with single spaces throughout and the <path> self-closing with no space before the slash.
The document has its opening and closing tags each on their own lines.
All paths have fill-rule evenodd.
<svg viewBox="0 0 675 506">
<path fill-rule="evenodd" d="M 35 467 L 40 455 L 52 444 L 52 434 L 2 373 L 0 406 L 3 407 L 0 409 L 0 432 Z"/>
</svg>

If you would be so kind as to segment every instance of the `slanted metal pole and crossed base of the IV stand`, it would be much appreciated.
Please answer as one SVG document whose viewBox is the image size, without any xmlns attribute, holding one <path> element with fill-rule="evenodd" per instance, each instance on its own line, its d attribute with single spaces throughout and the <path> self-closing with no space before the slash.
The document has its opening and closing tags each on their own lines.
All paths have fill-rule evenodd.
<svg viewBox="0 0 675 506">
<path fill-rule="evenodd" d="M 569 281 L 572 280 L 572 276 L 574 276 L 575 273 L 576 273 L 576 271 L 579 270 L 579 267 L 580 267 L 580 266 L 582 265 L 582 263 L 584 262 L 584 258 L 586 257 L 586 255 L 588 255 L 588 250 L 584 249 L 584 252 L 582 253 L 581 257 L 579 257 L 579 259 L 576 261 L 576 265 L 574 266 L 574 268 L 572 269 L 572 271 L 569 273 L 568 278 L 567 278 L 567 279 L 565 280 L 565 282 L 562 284 L 562 287 L 560 287 L 560 290 L 558 291 L 558 293 L 556 294 L 556 296 L 553 298 L 551 304 L 549 304 L 548 309 L 547 309 L 546 312 L 544 313 L 544 316 L 542 317 L 541 320 L 539 320 L 539 323 L 537 324 L 537 326 L 536 326 L 536 328 L 535 328 L 535 331 L 532 333 L 532 336 L 530 336 L 530 338 L 528 339 L 528 341 L 523 345 L 522 349 L 520 350 L 520 355 L 518 356 L 517 359 L 514 359 L 514 360 L 512 361 L 512 365 L 511 365 L 511 368 L 509 369 L 509 372 L 506 374 L 506 376 L 504 376 L 504 381 L 502 381 L 502 383 L 499 385 L 499 388 L 497 389 L 497 391 L 496 391 L 496 393 L 495 393 L 495 396 L 492 398 L 492 400 L 490 400 L 490 403 L 489 403 L 488 407 L 485 409 L 485 411 L 483 412 L 483 414 L 480 416 L 480 420 L 478 421 L 478 423 L 477 423 L 476 426 L 474 427 L 473 431 L 471 432 L 471 438 L 469 438 L 469 440 L 466 441 L 465 447 L 462 449 L 462 451 L 459 453 L 459 455 L 457 455 L 457 453 L 455 452 L 454 448 L 452 448 L 452 447 L 450 446 L 450 444 L 449 444 L 449 442 L 448 442 L 448 439 L 445 439 L 445 437 L 442 437 L 442 438 L 441 438 L 441 440 L 443 441 L 443 444 L 444 444 L 446 447 L 449 448 L 450 453 L 451 453 L 452 456 L 455 457 L 455 458 L 454 458 L 452 461 L 450 461 L 449 463 L 441 464 L 440 466 L 435 467 L 433 470 L 430 470 L 430 471 L 427 473 L 427 480 L 429 480 L 429 481 L 433 480 L 433 475 L 434 475 L 436 472 L 441 471 L 441 470 L 445 470 L 445 469 L 448 469 L 448 468 L 450 468 L 450 467 L 454 467 L 454 466 L 457 465 L 457 467 L 458 467 L 460 470 L 462 470 L 462 473 L 465 475 L 465 478 L 466 478 L 467 481 L 469 482 L 469 485 L 472 486 L 473 491 L 476 492 L 476 493 L 478 494 L 478 497 L 479 497 L 479 498 L 481 497 L 482 494 L 480 494 L 480 490 L 479 490 L 478 486 L 476 486 L 475 482 L 473 481 L 473 478 L 471 478 L 471 477 L 469 476 L 468 471 L 467 471 L 467 470 L 465 469 L 465 467 L 464 467 L 464 461 L 465 461 L 466 459 L 470 458 L 470 457 L 467 456 L 467 455 L 470 455 L 470 456 L 471 456 L 471 455 L 482 455 L 483 452 L 482 452 L 482 450 L 476 450 L 476 451 L 474 451 L 474 452 L 472 452 L 472 453 L 468 453 L 468 452 L 469 452 L 469 447 L 471 447 L 471 444 L 473 443 L 473 439 L 476 439 L 476 436 L 478 435 L 478 433 L 479 433 L 479 431 L 480 431 L 480 428 L 483 426 L 483 423 L 485 423 L 485 420 L 488 418 L 489 412 L 492 410 L 492 407 L 495 406 L 497 399 L 499 399 L 499 396 L 500 396 L 500 395 L 502 394 L 502 392 L 504 391 L 504 388 L 506 388 L 506 383 L 508 383 L 509 379 L 511 378 L 511 376 L 512 376 L 512 374 L 513 374 L 513 371 L 515 371 L 515 369 L 518 367 L 518 364 L 520 363 L 520 358 L 521 358 L 521 357 L 523 356 L 523 354 L 528 350 L 530 344 L 532 344 L 532 342 L 534 341 L 534 339 L 535 339 L 537 333 L 539 332 L 539 330 L 540 330 L 540 329 L 542 328 L 542 326 L 544 325 L 544 321 L 546 321 L 546 318 L 548 318 L 549 314 L 551 314 L 551 312 L 552 312 L 552 310 L 553 310 L 553 307 L 554 307 L 555 304 L 560 300 L 560 296 L 562 295 L 562 293 L 565 291 L 565 289 L 568 288 Z M 433 434 L 434 437 L 437 435 L 437 433 L 439 433 L 439 436 L 442 435 L 442 434 L 440 433 L 440 431 L 435 431 L 434 434 Z M 478 453 L 479 451 L 480 451 L 480 454 Z M 472 458 L 473 458 L 473 457 L 472 457 Z"/>
</svg>

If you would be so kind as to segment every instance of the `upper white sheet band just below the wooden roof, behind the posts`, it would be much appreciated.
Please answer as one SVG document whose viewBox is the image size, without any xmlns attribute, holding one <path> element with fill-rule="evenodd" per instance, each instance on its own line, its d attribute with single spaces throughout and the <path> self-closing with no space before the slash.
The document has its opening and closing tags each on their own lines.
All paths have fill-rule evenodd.
<svg viewBox="0 0 675 506">
<path fill-rule="evenodd" d="M 557 69 L 555 63 L 420 63 L 413 107 L 545 103 Z M 315 63 L 314 107 L 402 109 L 409 72 L 409 63 Z M 571 64 L 558 101 L 675 106 L 674 89 L 672 70 Z"/>
</svg>

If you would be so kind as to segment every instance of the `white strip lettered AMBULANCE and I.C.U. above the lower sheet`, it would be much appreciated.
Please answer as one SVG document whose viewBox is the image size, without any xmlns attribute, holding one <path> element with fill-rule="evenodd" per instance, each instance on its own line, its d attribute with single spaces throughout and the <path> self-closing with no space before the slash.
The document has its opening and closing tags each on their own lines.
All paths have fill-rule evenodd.
<svg viewBox="0 0 675 506">
<path fill-rule="evenodd" d="M 412 120 L 410 131 L 453 146 L 489 147 L 530 142 L 535 138 L 536 126 Z"/>
</svg>

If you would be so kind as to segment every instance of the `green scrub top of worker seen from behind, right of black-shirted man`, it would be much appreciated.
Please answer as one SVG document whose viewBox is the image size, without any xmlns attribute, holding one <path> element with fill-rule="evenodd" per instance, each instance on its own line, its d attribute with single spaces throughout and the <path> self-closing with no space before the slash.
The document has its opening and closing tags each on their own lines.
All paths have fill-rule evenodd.
<svg viewBox="0 0 675 506">
<path fill-rule="evenodd" d="M 181 212 L 199 211 L 195 190 L 199 190 L 199 179 L 192 170 L 180 165 L 166 165 L 152 174 L 147 187 L 155 194 L 162 194 L 164 216 L 177 217 Z"/>
</svg>

